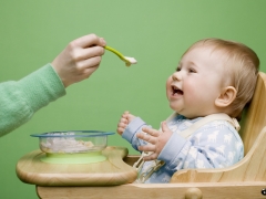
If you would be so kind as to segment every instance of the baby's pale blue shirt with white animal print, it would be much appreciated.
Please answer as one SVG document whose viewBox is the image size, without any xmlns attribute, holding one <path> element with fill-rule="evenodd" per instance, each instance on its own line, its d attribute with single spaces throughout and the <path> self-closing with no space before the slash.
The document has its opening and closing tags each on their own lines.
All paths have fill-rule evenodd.
<svg viewBox="0 0 266 199">
<path fill-rule="evenodd" d="M 244 145 L 237 130 L 226 121 L 213 121 L 198 128 L 188 138 L 178 135 L 202 117 L 187 119 L 182 115 L 167 123 L 174 133 L 157 159 L 165 165 L 155 171 L 145 184 L 166 184 L 173 174 L 186 168 L 224 168 L 232 166 L 244 157 Z M 122 137 L 137 150 L 146 142 L 135 134 L 142 132 L 145 124 L 140 117 L 132 121 Z M 154 161 L 145 161 L 140 174 L 145 172 Z"/>
</svg>

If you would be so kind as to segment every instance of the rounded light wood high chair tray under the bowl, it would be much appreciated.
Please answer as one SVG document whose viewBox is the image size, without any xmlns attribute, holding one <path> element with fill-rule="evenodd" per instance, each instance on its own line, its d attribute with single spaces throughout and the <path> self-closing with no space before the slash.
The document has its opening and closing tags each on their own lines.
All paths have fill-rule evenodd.
<svg viewBox="0 0 266 199">
<path fill-rule="evenodd" d="M 136 170 L 123 161 L 127 155 L 124 147 L 106 147 L 102 154 L 106 160 L 93 164 L 47 164 L 45 156 L 34 150 L 17 164 L 21 181 L 38 186 L 113 186 L 133 182 Z"/>
</svg>

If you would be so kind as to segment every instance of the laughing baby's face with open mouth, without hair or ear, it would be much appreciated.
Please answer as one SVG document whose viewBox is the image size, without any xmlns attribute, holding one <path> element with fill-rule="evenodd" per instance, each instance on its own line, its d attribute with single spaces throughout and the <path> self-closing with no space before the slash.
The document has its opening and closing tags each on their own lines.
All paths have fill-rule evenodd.
<svg viewBox="0 0 266 199">
<path fill-rule="evenodd" d="M 207 46 L 191 50 L 166 82 L 170 107 L 188 118 L 217 113 L 215 100 L 223 90 L 224 74 L 219 52 Z"/>
</svg>

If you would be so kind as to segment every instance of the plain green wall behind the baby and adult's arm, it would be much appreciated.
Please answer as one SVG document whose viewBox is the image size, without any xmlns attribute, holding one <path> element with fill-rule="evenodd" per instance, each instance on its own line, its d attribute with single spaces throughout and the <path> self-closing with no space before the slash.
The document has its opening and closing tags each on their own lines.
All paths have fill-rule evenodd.
<svg viewBox="0 0 266 199">
<path fill-rule="evenodd" d="M 0 82 L 19 80 L 51 62 L 72 40 L 88 33 L 139 63 L 126 67 L 105 52 L 101 67 L 68 95 L 0 138 L 0 198 L 37 198 L 34 186 L 16 176 L 19 158 L 38 149 L 34 133 L 60 129 L 116 129 L 124 111 L 158 128 L 172 111 L 165 81 L 182 53 L 203 38 L 243 42 L 266 71 L 264 0 L 0 0 Z M 204 90 L 203 90 L 204 92 Z M 0 109 L 1 111 L 1 109 Z M 0 118 L 1 119 L 1 118 Z M 119 135 L 109 145 L 126 146 Z"/>
</svg>

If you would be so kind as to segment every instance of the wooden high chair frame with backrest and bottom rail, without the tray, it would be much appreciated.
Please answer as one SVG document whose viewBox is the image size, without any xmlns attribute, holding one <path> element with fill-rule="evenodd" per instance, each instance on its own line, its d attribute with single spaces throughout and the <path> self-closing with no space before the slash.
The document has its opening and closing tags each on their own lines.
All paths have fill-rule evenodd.
<svg viewBox="0 0 266 199">
<path fill-rule="evenodd" d="M 45 187 L 40 198 L 117 199 L 266 199 L 266 74 L 259 73 L 255 95 L 242 122 L 245 157 L 223 169 L 184 169 L 171 184 L 126 184 L 108 187 Z M 126 156 L 133 165 L 137 156 Z"/>
</svg>

